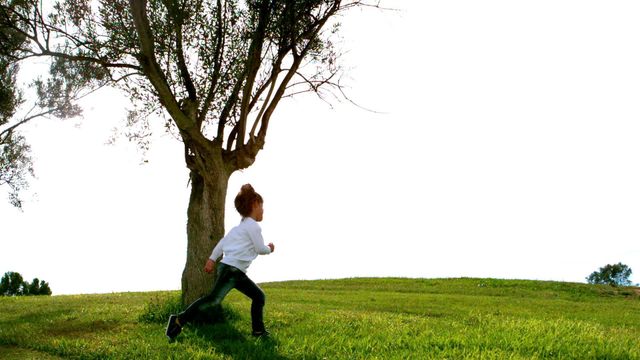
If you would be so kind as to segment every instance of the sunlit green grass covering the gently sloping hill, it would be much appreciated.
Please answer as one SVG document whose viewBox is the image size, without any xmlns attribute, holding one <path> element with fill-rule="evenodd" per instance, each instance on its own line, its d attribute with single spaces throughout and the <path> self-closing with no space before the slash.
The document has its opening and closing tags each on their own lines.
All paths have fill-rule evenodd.
<svg viewBox="0 0 640 360">
<path fill-rule="evenodd" d="M 262 284 L 270 340 L 249 301 L 225 323 L 164 320 L 178 292 L 0 298 L 0 358 L 640 359 L 637 288 L 495 279 L 344 279 Z"/>
</svg>

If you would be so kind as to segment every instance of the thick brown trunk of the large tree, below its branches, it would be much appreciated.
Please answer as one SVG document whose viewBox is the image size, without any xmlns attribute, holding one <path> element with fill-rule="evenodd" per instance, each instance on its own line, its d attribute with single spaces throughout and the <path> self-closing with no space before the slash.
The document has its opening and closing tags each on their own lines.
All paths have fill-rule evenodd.
<svg viewBox="0 0 640 360">
<path fill-rule="evenodd" d="M 224 171 L 205 179 L 191 171 L 191 197 L 187 210 L 187 263 L 182 273 L 182 303 L 190 304 L 208 294 L 215 274 L 204 265 L 215 245 L 224 236 L 224 210 L 229 176 Z"/>
</svg>

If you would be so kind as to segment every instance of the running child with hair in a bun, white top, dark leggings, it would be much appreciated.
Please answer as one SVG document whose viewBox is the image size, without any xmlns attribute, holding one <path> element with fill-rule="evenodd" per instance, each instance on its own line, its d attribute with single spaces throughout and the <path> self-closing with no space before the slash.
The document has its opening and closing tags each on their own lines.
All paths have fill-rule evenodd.
<svg viewBox="0 0 640 360">
<path fill-rule="evenodd" d="M 258 225 L 264 213 L 262 196 L 250 184 L 245 184 L 236 195 L 234 203 L 242 221 L 218 242 L 204 267 L 204 271 L 212 273 L 216 261 L 224 255 L 218 263 L 213 290 L 209 295 L 194 301 L 182 313 L 169 317 L 166 334 L 170 341 L 180 334 L 184 325 L 213 309 L 219 309 L 224 297 L 234 288 L 251 298 L 252 335 L 269 336 L 262 319 L 264 292 L 246 275 L 249 265 L 258 255 L 271 254 L 275 249 L 273 243 L 265 246 L 262 230 Z"/>
</svg>

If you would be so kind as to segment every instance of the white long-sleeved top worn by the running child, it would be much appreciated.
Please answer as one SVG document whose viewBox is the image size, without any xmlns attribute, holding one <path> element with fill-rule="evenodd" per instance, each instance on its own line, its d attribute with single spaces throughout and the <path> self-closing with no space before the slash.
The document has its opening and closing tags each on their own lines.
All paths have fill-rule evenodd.
<svg viewBox="0 0 640 360">
<path fill-rule="evenodd" d="M 223 264 L 247 272 L 251 262 L 258 255 L 271 254 L 271 248 L 264 244 L 260 225 L 254 219 L 246 217 L 218 242 L 209 259 L 216 261 L 223 254 Z"/>
</svg>

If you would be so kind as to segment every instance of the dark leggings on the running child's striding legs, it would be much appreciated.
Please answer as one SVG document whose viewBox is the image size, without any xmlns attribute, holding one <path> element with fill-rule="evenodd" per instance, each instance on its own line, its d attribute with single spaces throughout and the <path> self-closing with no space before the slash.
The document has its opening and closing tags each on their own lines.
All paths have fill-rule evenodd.
<svg viewBox="0 0 640 360">
<path fill-rule="evenodd" d="M 241 293 L 251 298 L 251 326 L 254 332 L 265 330 L 262 319 L 265 295 L 247 274 L 242 270 L 223 263 L 218 264 L 216 282 L 209 295 L 203 296 L 189 305 L 178 315 L 180 324 L 185 325 L 193 321 L 201 314 L 211 313 L 220 308 L 220 303 L 231 289 L 238 289 Z"/>
</svg>

